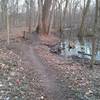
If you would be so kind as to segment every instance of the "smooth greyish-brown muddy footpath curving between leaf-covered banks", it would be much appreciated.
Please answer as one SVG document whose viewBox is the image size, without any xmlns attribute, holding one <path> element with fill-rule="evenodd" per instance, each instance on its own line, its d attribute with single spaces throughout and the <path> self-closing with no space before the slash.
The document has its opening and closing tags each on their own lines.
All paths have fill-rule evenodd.
<svg viewBox="0 0 100 100">
<path fill-rule="evenodd" d="M 13 51 L 20 55 L 21 59 L 28 62 L 27 75 L 34 70 L 39 75 L 39 84 L 42 87 L 41 100 L 70 100 L 69 89 L 58 78 L 56 70 L 46 64 L 35 52 L 34 47 L 39 44 L 37 35 L 33 35 L 32 41 L 21 41 L 13 44 Z M 20 52 L 19 52 L 20 51 Z M 30 81 L 32 74 L 29 74 Z M 37 100 L 37 99 L 36 99 Z M 40 100 L 40 99 L 39 99 Z M 73 99 L 72 99 L 73 100 Z"/>
</svg>

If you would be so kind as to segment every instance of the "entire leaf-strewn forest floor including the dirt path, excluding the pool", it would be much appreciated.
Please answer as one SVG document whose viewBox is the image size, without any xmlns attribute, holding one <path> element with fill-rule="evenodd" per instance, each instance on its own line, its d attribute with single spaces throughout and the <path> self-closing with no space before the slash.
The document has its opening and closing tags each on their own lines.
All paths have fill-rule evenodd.
<svg viewBox="0 0 100 100">
<path fill-rule="evenodd" d="M 0 100 L 100 100 L 100 65 L 52 54 L 54 36 L 0 41 Z"/>
</svg>

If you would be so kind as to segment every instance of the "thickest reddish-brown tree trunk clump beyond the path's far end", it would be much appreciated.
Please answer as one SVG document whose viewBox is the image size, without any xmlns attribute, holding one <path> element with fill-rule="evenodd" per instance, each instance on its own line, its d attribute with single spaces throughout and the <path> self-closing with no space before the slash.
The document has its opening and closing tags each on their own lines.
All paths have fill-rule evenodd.
<svg viewBox="0 0 100 100">
<path fill-rule="evenodd" d="M 38 23 L 36 25 L 36 32 L 41 32 L 45 35 L 49 33 L 49 13 L 52 0 L 38 0 Z"/>
</svg>

